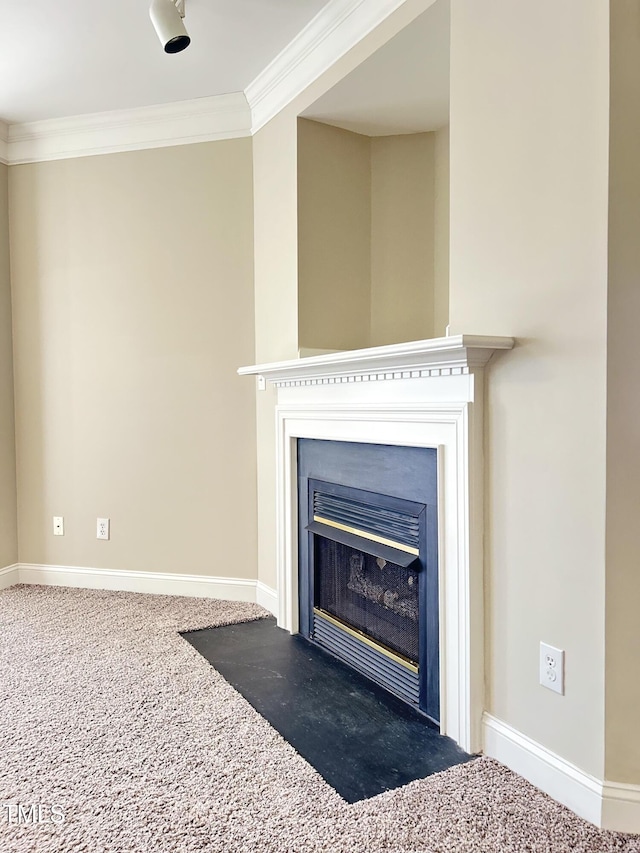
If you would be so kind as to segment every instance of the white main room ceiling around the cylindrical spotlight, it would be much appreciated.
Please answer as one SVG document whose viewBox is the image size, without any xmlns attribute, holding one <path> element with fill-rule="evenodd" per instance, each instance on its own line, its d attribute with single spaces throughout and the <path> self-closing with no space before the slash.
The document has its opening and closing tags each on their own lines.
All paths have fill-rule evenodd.
<svg viewBox="0 0 640 853">
<path fill-rule="evenodd" d="M 242 92 L 328 0 L 186 0 L 191 45 L 162 50 L 150 0 L 0 0 L 7 124 Z"/>
</svg>

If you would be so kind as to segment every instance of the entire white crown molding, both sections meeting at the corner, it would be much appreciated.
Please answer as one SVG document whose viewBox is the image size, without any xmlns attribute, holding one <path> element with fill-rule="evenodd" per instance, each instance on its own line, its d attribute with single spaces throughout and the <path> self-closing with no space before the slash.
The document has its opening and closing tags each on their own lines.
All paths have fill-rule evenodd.
<svg viewBox="0 0 640 853">
<path fill-rule="evenodd" d="M 411 0 L 330 0 L 244 92 L 22 124 L 0 121 L 0 162 L 13 166 L 251 136 L 406 3 Z"/>
</svg>

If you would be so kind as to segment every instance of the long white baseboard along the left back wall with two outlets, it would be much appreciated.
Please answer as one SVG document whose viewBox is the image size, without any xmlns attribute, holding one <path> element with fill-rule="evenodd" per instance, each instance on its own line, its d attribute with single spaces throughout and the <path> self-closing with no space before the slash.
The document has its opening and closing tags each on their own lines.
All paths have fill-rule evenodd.
<svg viewBox="0 0 640 853">
<path fill-rule="evenodd" d="M 129 572 L 121 569 L 89 569 L 80 566 L 44 566 L 20 563 L 20 583 L 45 586 L 75 586 L 84 589 L 114 589 L 158 595 L 187 595 L 256 601 L 256 581 L 207 575 L 178 575 L 168 572 Z M 17 581 L 14 581 L 17 583 Z"/>
</svg>

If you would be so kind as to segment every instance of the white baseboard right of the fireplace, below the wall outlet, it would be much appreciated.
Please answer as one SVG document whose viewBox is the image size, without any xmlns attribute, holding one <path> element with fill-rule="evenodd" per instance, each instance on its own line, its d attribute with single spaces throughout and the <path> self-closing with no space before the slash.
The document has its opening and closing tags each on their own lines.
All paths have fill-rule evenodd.
<svg viewBox="0 0 640 853">
<path fill-rule="evenodd" d="M 482 723 L 486 755 L 596 826 L 640 832 L 640 785 L 596 779 L 491 714 Z"/>
</svg>

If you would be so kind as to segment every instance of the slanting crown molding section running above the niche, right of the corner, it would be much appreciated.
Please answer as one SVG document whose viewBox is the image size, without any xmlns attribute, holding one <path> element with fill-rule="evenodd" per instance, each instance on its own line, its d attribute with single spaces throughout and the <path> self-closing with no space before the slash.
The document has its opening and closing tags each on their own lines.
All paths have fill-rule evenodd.
<svg viewBox="0 0 640 853">
<path fill-rule="evenodd" d="M 331 0 L 247 86 L 256 133 L 407 0 Z"/>
</svg>

